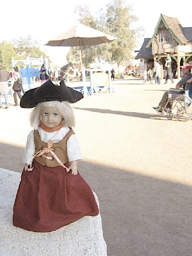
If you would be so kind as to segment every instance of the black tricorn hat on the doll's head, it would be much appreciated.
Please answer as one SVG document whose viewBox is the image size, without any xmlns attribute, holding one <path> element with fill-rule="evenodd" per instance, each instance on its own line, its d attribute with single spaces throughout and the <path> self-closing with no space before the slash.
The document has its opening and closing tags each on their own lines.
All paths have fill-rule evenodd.
<svg viewBox="0 0 192 256">
<path fill-rule="evenodd" d="M 49 101 L 75 103 L 82 98 L 83 94 L 67 87 L 64 80 L 61 80 L 60 85 L 56 85 L 49 79 L 40 87 L 26 91 L 20 100 L 20 106 L 21 108 L 34 108 L 40 102 Z"/>
</svg>

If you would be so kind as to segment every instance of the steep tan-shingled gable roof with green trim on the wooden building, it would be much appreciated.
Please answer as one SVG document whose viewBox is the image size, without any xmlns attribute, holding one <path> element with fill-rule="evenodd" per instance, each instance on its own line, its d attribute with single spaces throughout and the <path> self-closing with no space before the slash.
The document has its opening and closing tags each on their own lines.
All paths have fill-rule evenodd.
<svg viewBox="0 0 192 256">
<path fill-rule="evenodd" d="M 155 32 L 151 38 L 151 40 L 148 42 L 146 47 L 151 46 L 151 42 L 154 38 L 154 36 L 157 34 L 158 29 L 162 26 L 162 24 L 166 27 L 166 29 L 169 30 L 173 38 L 177 41 L 177 43 L 180 44 L 187 44 L 187 40 L 183 34 L 182 26 L 177 18 L 167 17 L 166 15 L 161 14 L 159 21 L 157 23 L 157 26 L 155 27 Z"/>
</svg>

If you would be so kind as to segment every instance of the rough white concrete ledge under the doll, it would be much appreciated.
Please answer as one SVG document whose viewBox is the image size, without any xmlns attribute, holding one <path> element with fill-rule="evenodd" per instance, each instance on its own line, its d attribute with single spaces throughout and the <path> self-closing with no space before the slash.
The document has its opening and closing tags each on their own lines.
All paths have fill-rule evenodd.
<svg viewBox="0 0 192 256">
<path fill-rule="evenodd" d="M 1 256 L 107 256 L 100 214 L 85 216 L 49 233 L 13 226 L 12 208 L 19 182 L 20 173 L 0 168 Z"/>
</svg>

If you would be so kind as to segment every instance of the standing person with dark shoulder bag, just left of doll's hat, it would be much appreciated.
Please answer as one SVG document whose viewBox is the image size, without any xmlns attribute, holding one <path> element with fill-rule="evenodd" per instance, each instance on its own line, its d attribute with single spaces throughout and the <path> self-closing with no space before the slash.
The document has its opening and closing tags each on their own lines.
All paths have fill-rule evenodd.
<svg viewBox="0 0 192 256">
<path fill-rule="evenodd" d="M 15 72 L 12 74 L 12 88 L 14 91 L 14 93 L 13 93 L 13 97 L 14 97 L 14 101 L 15 101 L 14 107 L 16 107 L 16 106 L 18 106 L 17 95 L 18 95 L 19 99 L 21 99 L 22 98 L 21 91 L 24 91 L 24 90 L 23 90 L 23 85 L 18 83 L 18 79 L 21 78 L 21 75 L 18 72 L 19 71 L 18 67 L 14 67 L 13 69 Z"/>
</svg>

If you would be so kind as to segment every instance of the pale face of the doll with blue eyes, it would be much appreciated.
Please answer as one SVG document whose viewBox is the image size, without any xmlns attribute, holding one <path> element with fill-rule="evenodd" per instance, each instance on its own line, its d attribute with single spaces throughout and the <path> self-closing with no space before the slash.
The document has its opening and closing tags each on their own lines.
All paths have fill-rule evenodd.
<svg viewBox="0 0 192 256">
<path fill-rule="evenodd" d="M 59 125 L 63 119 L 63 116 L 59 113 L 57 108 L 45 107 L 43 108 L 42 123 L 49 128 L 53 128 Z"/>
</svg>

